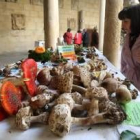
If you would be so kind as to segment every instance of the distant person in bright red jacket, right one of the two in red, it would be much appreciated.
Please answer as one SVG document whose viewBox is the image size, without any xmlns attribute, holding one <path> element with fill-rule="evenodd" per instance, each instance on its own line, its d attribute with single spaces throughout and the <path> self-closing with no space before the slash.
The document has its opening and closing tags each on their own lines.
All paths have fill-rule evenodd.
<svg viewBox="0 0 140 140">
<path fill-rule="evenodd" d="M 80 46 L 82 44 L 82 33 L 80 30 L 74 36 L 74 44 Z"/>
</svg>

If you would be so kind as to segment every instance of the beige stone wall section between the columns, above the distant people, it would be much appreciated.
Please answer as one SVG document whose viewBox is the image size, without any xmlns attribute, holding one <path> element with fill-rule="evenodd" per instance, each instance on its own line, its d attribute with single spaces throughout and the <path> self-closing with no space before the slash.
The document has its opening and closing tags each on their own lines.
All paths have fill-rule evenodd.
<svg viewBox="0 0 140 140">
<path fill-rule="evenodd" d="M 84 12 L 84 28 L 99 27 L 100 0 L 59 0 L 60 36 L 70 23 L 73 34 L 79 28 L 79 12 Z"/>
</svg>

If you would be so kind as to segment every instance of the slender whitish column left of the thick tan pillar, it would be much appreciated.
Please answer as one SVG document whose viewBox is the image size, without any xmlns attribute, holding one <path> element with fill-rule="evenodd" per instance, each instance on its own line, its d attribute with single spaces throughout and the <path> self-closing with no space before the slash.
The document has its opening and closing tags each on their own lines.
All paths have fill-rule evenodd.
<svg viewBox="0 0 140 140">
<path fill-rule="evenodd" d="M 99 50 L 103 51 L 106 0 L 100 0 Z"/>
</svg>

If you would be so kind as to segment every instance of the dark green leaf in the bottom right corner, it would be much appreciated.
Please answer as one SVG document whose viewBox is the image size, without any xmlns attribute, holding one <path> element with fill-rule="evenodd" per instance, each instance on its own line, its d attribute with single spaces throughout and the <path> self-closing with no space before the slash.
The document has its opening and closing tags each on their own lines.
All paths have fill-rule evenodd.
<svg viewBox="0 0 140 140">
<path fill-rule="evenodd" d="M 123 131 L 120 140 L 140 140 L 137 135 L 129 130 Z"/>
</svg>

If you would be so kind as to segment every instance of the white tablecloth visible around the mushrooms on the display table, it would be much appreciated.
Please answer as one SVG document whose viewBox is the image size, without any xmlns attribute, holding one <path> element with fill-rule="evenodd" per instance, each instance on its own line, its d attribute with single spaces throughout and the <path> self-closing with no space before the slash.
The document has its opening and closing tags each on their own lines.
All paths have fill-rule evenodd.
<svg viewBox="0 0 140 140">
<path fill-rule="evenodd" d="M 124 79 L 125 77 L 117 70 L 98 50 L 96 52 L 99 58 L 103 59 L 108 66 L 108 70 L 114 72 L 117 77 Z M 38 63 L 38 66 L 41 66 Z M 133 88 L 133 86 L 132 86 Z M 139 96 L 138 99 L 139 100 Z M 140 135 L 138 127 L 129 125 L 92 125 L 88 127 L 80 127 L 72 125 L 71 131 L 65 137 L 54 135 L 47 125 L 36 124 L 30 129 L 21 131 L 15 127 L 14 116 L 0 122 L 0 140 L 119 140 L 120 133 L 129 129 Z"/>
</svg>

